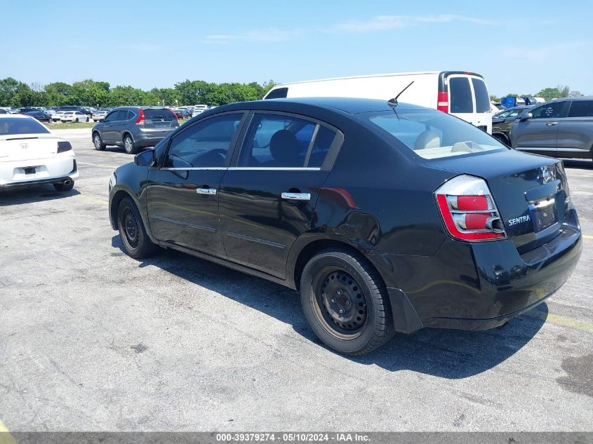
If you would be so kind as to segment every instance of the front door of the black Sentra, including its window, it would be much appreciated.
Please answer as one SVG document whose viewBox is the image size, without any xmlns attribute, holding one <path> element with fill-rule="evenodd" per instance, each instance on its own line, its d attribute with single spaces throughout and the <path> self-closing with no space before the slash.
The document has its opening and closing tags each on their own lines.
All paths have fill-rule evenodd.
<svg viewBox="0 0 593 444">
<path fill-rule="evenodd" d="M 218 192 L 244 115 L 197 121 L 171 139 L 163 166 L 148 175 L 149 224 L 159 241 L 225 257 Z"/>
</svg>

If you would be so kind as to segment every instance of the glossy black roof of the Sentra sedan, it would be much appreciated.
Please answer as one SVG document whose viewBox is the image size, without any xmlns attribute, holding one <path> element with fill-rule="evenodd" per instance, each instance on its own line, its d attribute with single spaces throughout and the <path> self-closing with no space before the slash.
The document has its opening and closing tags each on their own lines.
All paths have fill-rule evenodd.
<svg viewBox="0 0 593 444">
<path fill-rule="evenodd" d="M 362 99 L 357 97 L 298 97 L 255 100 L 253 102 L 237 102 L 231 105 L 217 107 L 216 112 L 230 109 L 269 109 L 270 105 L 309 105 L 335 111 L 340 110 L 348 114 L 360 114 L 364 112 L 393 111 L 387 100 Z M 397 109 L 427 109 L 418 105 L 400 102 Z"/>
</svg>

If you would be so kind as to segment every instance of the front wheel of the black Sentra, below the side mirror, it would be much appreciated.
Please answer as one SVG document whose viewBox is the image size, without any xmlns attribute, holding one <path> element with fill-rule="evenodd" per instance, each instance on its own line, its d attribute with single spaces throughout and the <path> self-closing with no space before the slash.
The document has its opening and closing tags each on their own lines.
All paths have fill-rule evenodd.
<svg viewBox="0 0 593 444">
<path fill-rule="evenodd" d="M 121 243 L 128 256 L 142 259 L 154 255 L 159 249 L 158 245 L 150 241 L 140 212 L 129 197 L 121 199 L 117 207 L 117 227 Z"/>
</svg>

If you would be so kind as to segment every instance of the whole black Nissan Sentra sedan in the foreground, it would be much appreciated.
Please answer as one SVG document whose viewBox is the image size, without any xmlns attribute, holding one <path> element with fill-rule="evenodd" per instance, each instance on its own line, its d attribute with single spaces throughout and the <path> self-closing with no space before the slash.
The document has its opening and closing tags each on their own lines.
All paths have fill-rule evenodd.
<svg viewBox="0 0 593 444">
<path fill-rule="evenodd" d="M 395 331 L 503 325 L 582 251 L 560 161 L 397 100 L 204 112 L 115 170 L 109 215 L 136 259 L 172 248 L 299 290 L 343 354 Z"/>
</svg>

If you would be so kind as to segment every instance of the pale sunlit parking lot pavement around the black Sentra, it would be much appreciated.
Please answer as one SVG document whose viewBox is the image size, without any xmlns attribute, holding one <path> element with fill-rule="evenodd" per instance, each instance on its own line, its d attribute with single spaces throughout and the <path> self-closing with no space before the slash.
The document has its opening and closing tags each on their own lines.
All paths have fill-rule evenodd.
<svg viewBox="0 0 593 444">
<path fill-rule="evenodd" d="M 585 248 L 548 302 L 500 330 L 427 329 L 346 358 L 291 290 L 181 253 L 126 256 L 107 183 L 131 156 L 63 135 L 72 191 L 0 191 L 0 429 L 593 430 L 591 161 L 566 161 Z"/>
</svg>

